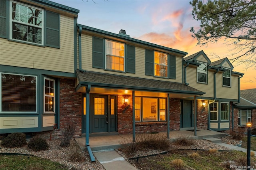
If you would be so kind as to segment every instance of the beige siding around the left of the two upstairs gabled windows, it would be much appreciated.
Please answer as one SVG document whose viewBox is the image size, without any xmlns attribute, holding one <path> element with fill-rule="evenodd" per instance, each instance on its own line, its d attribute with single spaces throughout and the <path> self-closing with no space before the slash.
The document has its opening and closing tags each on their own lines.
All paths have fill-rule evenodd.
<svg viewBox="0 0 256 170">
<path fill-rule="evenodd" d="M 203 97 L 214 97 L 214 73 L 208 71 L 208 84 L 197 83 L 197 68 L 186 68 L 186 83 L 189 83 L 190 87 L 194 87 L 200 91 L 206 92 Z"/>
</svg>

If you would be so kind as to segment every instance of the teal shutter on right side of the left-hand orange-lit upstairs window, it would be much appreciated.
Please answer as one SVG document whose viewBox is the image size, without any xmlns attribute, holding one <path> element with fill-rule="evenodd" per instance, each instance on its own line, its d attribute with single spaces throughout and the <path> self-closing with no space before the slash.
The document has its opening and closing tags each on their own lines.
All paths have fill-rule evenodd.
<svg viewBox="0 0 256 170">
<path fill-rule="evenodd" d="M 135 47 L 126 45 L 126 72 L 135 73 Z"/>
</svg>

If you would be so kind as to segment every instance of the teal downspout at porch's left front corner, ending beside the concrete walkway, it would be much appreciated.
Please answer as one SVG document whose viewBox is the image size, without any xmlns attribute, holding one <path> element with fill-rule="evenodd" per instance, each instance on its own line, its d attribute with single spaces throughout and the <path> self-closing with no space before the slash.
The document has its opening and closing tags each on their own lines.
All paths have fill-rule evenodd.
<svg viewBox="0 0 256 170">
<path fill-rule="evenodd" d="M 90 90 L 91 90 L 91 85 L 88 85 L 87 89 L 86 89 L 86 94 L 85 94 L 85 97 L 86 97 L 86 134 L 85 134 L 85 146 L 88 150 L 88 153 L 89 153 L 89 156 L 91 158 L 91 161 L 94 162 L 95 161 L 95 158 L 93 156 L 93 153 L 92 153 L 92 150 L 90 148 L 90 145 L 89 145 L 89 107 L 90 107 Z"/>
</svg>

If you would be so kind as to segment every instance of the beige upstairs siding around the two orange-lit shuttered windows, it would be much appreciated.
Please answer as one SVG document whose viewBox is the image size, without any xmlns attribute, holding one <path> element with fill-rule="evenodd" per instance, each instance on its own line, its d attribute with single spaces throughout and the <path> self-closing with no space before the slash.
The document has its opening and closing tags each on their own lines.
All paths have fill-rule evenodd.
<svg viewBox="0 0 256 170">
<path fill-rule="evenodd" d="M 176 57 L 176 79 L 164 79 L 153 76 L 145 75 L 145 49 L 142 47 L 135 48 L 135 61 L 136 61 L 136 73 L 121 73 L 117 71 L 107 71 L 104 69 L 92 68 L 92 36 L 82 34 L 81 35 L 82 45 L 82 69 L 88 71 L 96 71 L 100 73 L 109 73 L 116 75 L 125 75 L 131 77 L 140 77 L 146 79 L 157 79 L 162 81 L 182 82 L 182 58 Z"/>
</svg>

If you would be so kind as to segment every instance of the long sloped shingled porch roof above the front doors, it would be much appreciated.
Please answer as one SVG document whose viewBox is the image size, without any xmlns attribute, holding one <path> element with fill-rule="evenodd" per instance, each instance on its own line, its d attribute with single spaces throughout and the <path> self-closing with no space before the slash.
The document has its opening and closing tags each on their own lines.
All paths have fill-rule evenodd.
<svg viewBox="0 0 256 170">
<path fill-rule="evenodd" d="M 183 93 L 191 95 L 205 94 L 205 92 L 188 85 L 164 80 L 145 79 L 93 71 L 76 71 L 76 74 L 80 87 L 91 85 L 92 87 L 154 91 L 162 93 Z"/>
</svg>

